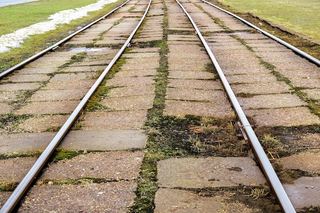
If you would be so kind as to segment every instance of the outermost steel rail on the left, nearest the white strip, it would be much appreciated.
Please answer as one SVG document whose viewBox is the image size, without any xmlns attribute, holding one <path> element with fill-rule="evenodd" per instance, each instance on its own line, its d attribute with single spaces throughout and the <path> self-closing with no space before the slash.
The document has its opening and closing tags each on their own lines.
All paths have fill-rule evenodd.
<svg viewBox="0 0 320 213">
<path fill-rule="evenodd" d="M 82 31 L 86 30 L 87 28 L 95 25 L 97 22 L 105 19 L 107 16 L 109 16 L 110 14 L 112 14 L 113 12 L 115 12 L 116 10 L 118 10 L 119 8 L 123 7 L 123 6 L 124 6 L 125 4 L 127 4 L 129 1 L 130 1 L 130 0 L 127 0 L 125 3 L 123 3 L 123 4 L 120 5 L 119 7 L 111 10 L 108 14 L 106 14 L 106 15 L 102 16 L 101 18 L 99 18 L 99 19 L 97 19 L 97 20 L 89 23 L 89 25 L 87 25 L 87 26 L 81 28 L 80 30 L 78 30 L 77 32 L 74 32 L 73 34 L 65 37 L 64 39 L 58 41 L 57 43 L 53 44 L 52 46 L 49 46 L 49 48 L 42 50 L 41 52 L 39 52 L 39 53 L 31 56 L 30 58 L 27 58 L 26 60 L 24 60 L 24 61 L 22 61 L 22 62 L 20 62 L 20 63 L 18 63 L 18 64 L 16 64 L 16 65 L 14 65 L 14 66 L 12 66 L 12 67 L 10 67 L 9 69 L 5 70 L 4 72 L 0 73 L 0 79 L 3 78 L 3 77 L 5 77 L 6 75 L 12 73 L 12 72 L 13 72 L 14 70 L 16 70 L 17 68 L 19 68 L 19 67 L 21 67 L 21 66 L 24 66 L 24 65 L 26 65 L 27 63 L 30 63 L 31 61 L 39 58 L 40 56 L 44 55 L 45 53 L 47 53 L 47 52 L 49 52 L 49 51 L 51 51 L 51 50 L 57 49 L 60 44 L 66 42 L 66 41 L 68 41 L 68 40 L 70 40 L 72 37 L 74 37 L 74 36 L 77 35 L 78 33 L 81 33 Z"/>
</svg>

